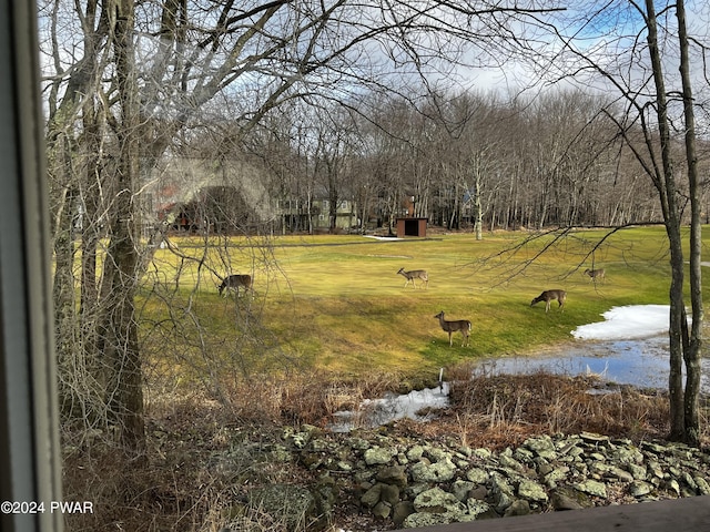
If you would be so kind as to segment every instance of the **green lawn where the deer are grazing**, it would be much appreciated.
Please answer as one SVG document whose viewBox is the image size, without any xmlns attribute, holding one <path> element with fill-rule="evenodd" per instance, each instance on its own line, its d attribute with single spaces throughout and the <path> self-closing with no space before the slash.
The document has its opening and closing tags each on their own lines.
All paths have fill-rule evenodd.
<svg viewBox="0 0 710 532">
<path fill-rule="evenodd" d="M 668 301 L 662 227 L 570 233 L 555 243 L 555 235 L 529 237 L 286 236 L 206 248 L 173 237 L 176 249 L 159 250 L 149 268 L 144 345 L 156 360 L 176 356 L 168 364 L 176 372 L 210 374 L 229 361 L 243 376 L 293 366 L 342 379 L 387 372 L 427 380 L 475 357 L 562 346 L 613 306 Z M 592 260 L 607 269 L 604 283 L 582 274 Z M 400 267 L 426 269 L 428 289 L 405 288 Z M 253 274 L 254 297 L 220 298 L 217 275 L 226 273 Z M 567 290 L 564 313 L 556 303 L 547 315 L 544 304 L 530 307 L 551 288 Z M 460 347 L 460 334 L 449 347 L 434 318 L 439 310 L 473 323 L 470 347 Z"/>
</svg>

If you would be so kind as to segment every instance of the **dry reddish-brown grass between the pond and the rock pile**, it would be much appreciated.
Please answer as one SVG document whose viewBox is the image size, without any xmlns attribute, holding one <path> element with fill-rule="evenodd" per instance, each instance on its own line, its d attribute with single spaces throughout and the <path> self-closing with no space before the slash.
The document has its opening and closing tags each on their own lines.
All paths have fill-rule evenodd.
<svg viewBox="0 0 710 532">
<path fill-rule="evenodd" d="M 669 430 L 666 393 L 604 388 L 594 377 L 474 377 L 454 382 L 450 400 L 436 428 L 422 426 L 422 431 L 455 434 L 471 447 L 500 449 L 531 434 L 582 431 L 658 439 Z"/>
</svg>

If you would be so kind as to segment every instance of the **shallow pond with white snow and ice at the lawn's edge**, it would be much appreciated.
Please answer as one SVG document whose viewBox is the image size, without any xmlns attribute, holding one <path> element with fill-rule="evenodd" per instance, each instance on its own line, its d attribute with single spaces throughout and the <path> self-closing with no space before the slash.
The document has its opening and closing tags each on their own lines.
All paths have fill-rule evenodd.
<svg viewBox="0 0 710 532">
<path fill-rule="evenodd" d="M 615 307 L 604 321 L 572 331 L 574 341 L 536 356 L 481 359 L 476 375 L 525 375 L 545 370 L 557 375 L 594 374 L 609 382 L 640 388 L 668 388 L 667 305 Z M 701 391 L 710 393 L 710 359 L 702 360 Z M 445 376 L 444 376 L 445 377 Z M 376 427 L 408 417 L 426 421 L 427 411 L 448 405 L 448 383 L 415 390 L 404 396 L 388 395 L 364 401 L 358 411 L 336 412 L 333 431 L 353 427 Z"/>
</svg>

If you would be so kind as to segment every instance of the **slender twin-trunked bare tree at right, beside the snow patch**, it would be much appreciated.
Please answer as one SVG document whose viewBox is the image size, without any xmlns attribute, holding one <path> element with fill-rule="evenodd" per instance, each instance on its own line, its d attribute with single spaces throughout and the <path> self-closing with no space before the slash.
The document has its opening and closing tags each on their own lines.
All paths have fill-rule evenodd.
<svg viewBox="0 0 710 532">
<path fill-rule="evenodd" d="M 582 48 L 584 41 L 578 41 L 574 33 L 580 29 L 594 28 L 598 22 L 607 20 L 606 17 L 612 12 L 619 23 L 612 29 L 601 23 L 605 31 L 612 32 L 604 35 L 605 44 L 596 49 Z M 672 12 L 676 13 L 674 18 L 670 17 Z M 698 444 L 699 360 L 703 323 L 700 289 L 701 195 L 694 147 L 697 102 L 693 100 L 693 81 L 690 76 L 690 53 L 691 44 L 701 43 L 702 39 L 693 40 L 688 34 L 683 0 L 668 2 L 660 9 L 652 0 L 643 3 L 589 6 L 586 14 L 576 19 L 568 28 L 571 29 L 569 34 L 559 33 L 565 53 L 555 60 L 556 65 L 569 66 L 560 75 L 587 83 L 595 79 L 601 80 L 616 91 L 617 106 L 605 108 L 602 112 L 616 124 L 618 135 L 633 153 L 660 200 L 672 272 L 669 323 L 670 438 Z M 616 48 L 610 50 L 612 44 Z M 567 52 L 569 55 L 566 55 Z M 679 76 L 669 73 L 672 69 L 665 59 L 670 57 L 679 58 Z M 572 66 L 570 61 L 576 64 Z M 549 63 L 546 68 L 549 68 Z M 707 79 L 707 72 L 703 74 Z M 677 121 L 683 124 L 680 135 L 684 137 L 686 144 L 684 155 L 680 157 L 673 152 L 673 143 L 680 136 L 674 133 Z M 679 167 L 686 171 L 684 182 L 679 177 Z M 682 227 L 687 203 L 690 204 L 690 327 L 683 295 L 686 275 Z M 687 374 L 684 390 L 683 361 Z"/>
</svg>

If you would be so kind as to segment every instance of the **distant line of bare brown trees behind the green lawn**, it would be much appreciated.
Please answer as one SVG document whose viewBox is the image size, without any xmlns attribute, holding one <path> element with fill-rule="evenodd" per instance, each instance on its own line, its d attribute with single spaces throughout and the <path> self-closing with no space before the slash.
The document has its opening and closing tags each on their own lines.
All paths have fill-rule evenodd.
<svg viewBox="0 0 710 532">
<path fill-rule="evenodd" d="M 428 94 L 419 104 L 369 100 L 346 110 L 282 110 L 232 155 L 263 167 L 274 198 L 303 209 L 327 198 L 332 229 L 344 200 L 355 202 L 357 231 L 392 227 L 407 212 L 479 236 L 662 222 L 657 191 L 602 112 L 619 110 L 602 95 L 468 91 Z M 682 151 L 682 139 L 673 150 Z"/>
</svg>

